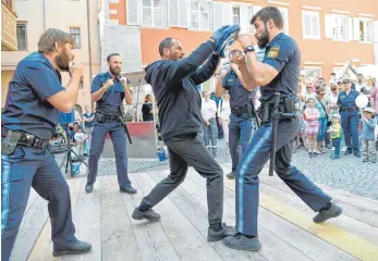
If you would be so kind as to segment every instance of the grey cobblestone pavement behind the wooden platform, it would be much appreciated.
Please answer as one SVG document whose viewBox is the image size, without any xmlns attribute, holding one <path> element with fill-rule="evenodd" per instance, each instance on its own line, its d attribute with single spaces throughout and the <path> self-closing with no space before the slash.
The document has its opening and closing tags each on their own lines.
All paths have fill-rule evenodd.
<svg viewBox="0 0 378 261">
<path fill-rule="evenodd" d="M 217 161 L 230 165 L 230 154 L 227 153 L 225 144 L 218 140 Z M 105 153 L 107 153 L 105 151 Z M 330 151 L 317 158 L 308 158 L 304 149 L 298 149 L 293 154 L 292 164 L 303 171 L 312 181 L 333 188 L 349 191 L 363 197 L 378 200 L 378 163 L 363 163 L 362 159 L 354 156 L 341 156 L 340 160 L 330 160 Z M 57 157 L 61 161 L 62 157 Z M 84 167 L 84 165 L 83 165 Z M 85 169 L 82 173 L 85 173 Z M 265 166 L 268 167 L 268 164 Z M 129 171 L 132 173 L 157 170 L 168 170 L 169 160 L 129 159 Z M 227 173 L 229 170 L 224 170 Z M 114 175 L 115 161 L 112 158 L 100 159 L 98 175 Z"/>
</svg>

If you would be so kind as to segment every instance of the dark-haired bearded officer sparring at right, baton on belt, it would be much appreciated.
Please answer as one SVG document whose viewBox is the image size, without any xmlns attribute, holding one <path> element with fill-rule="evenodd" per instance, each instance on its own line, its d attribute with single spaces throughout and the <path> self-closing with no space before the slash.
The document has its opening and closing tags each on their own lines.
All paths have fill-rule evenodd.
<svg viewBox="0 0 378 261">
<path fill-rule="evenodd" d="M 273 7 L 261 9 L 252 18 L 259 47 L 266 46 L 263 63 L 253 48 L 253 37 L 239 36 L 244 55 L 231 60 L 240 64 L 243 80 L 248 88 L 260 86 L 261 126 L 255 132 L 251 144 L 236 169 L 236 231 L 223 244 L 230 248 L 257 251 L 258 174 L 269 159 L 272 140 L 272 105 L 275 94 L 280 92 L 279 111 L 297 113 L 297 80 L 301 74 L 301 53 L 296 42 L 282 33 L 283 20 Z M 249 73 L 251 72 L 251 73 Z M 295 109 L 296 108 L 296 109 Z M 298 116 L 281 119 L 278 123 L 275 171 L 278 176 L 309 207 L 318 212 L 314 222 L 321 223 L 342 213 L 331 198 L 313 184 L 300 170 L 291 165 L 292 140 L 300 129 Z"/>
</svg>

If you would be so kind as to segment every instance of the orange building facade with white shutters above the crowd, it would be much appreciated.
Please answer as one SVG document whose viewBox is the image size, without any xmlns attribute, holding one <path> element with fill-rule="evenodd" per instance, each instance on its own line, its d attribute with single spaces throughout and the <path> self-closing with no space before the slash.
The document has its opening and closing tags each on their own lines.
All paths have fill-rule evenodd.
<svg viewBox="0 0 378 261">
<path fill-rule="evenodd" d="M 328 79 L 347 61 L 355 66 L 377 63 L 378 1 L 371 0 L 102 0 L 100 34 L 109 35 L 111 28 L 131 42 L 122 47 L 105 37 L 101 50 L 117 47 L 127 60 L 124 71 L 138 71 L 159 59 L 158 44 L 166 37 L 180 39 L 191 53 L 223 24 L 237 23 L 242 32 L 253 33 L 249 20 L 266 5 L 281 11 L 284 32 L 301 48 L 307 79 Z M 203 88 L 211 90 L 212 80 Z"/>
</svg>

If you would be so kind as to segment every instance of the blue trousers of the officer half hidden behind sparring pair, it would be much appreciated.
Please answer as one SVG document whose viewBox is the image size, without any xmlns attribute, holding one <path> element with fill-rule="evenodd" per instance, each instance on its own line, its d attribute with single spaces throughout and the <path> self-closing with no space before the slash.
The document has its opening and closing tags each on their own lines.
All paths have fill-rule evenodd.
<svg viewBox="0 0 378 261">
<path fill-rule="evenodd" d="M 232 171 L 236 171 L 241 154 L 246 150 L 254 132 L 253 119 L 247 113 L 240 116 L 230 114 L 229 146 L 232 160 Z"/>
</svg>

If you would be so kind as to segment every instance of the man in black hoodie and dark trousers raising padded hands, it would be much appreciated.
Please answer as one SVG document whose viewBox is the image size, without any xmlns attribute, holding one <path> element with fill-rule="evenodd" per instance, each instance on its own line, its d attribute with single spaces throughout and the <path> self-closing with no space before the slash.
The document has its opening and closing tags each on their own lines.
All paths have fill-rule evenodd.
<svg viewBox="0 0 378 261">
<path fill-rule="evenodd" d="M 217 53 L 228 35 L 228 26 L 219 28 L 185 59 L 182 59 L 181 42 L 167 38 L 159 46 L 161 60 L 146 67 L 145 79 L 153 86 L 157 99 L 160 133 L 169 149 L 171 173 L 143 199 L 132 215 L 135 220 L 159 221 L 160 215 L 151 208 L 185 179 L 190 164 L 207 178 L 209 241 L 221 240 L 235 231 L 222 224 L 223 171 L 198 138 L 202 99 L 196 85 L 208 80 L 216 71 L 220 60 Z"/>
</svg>

